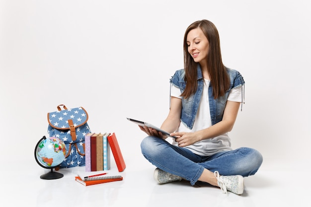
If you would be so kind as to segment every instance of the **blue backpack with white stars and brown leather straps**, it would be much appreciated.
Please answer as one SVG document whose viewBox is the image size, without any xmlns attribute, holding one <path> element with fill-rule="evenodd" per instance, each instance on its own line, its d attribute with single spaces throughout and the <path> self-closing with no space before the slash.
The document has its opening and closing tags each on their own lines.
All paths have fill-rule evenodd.
<svg viewBox="0 0 311 207">
<path fill-rule="evenodd" d="M 66 158 L 59 167 L 84 166 L 85 135 L 91 132 L 87 124 L 88 114 L 82 107 L 68 109 L 62 104 L 57 109 L 48 113 L 48 133 L 50 137 L 60 138 L 66 144 Z"/>
</svg>

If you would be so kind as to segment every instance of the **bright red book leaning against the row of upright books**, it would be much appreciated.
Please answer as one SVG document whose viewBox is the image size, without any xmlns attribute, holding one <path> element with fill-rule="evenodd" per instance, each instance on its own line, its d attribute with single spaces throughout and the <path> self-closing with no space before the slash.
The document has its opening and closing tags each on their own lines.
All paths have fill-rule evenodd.
<svg viewBox="0 0 311 207">
<path fill-rule="evenodd" d="M 114 160 L 116 161 L 118 170 L 119 170 L 119 172 L 122 172 L 125 169 L 126 166 L 125 166 L 125 162 L 124 162 L 124 159 L 123 159 L 123 156 L 122 156 L 122 153 L 121 153 L 121 149 L 120 149 L 118 140 L 116 138 L 116 135 L 114 133 L 110 134 L 107 137 L 107 140 L 109 142 L 109 145 L 110 145 L 110 148 L 111 148 Z"/>
</svg>

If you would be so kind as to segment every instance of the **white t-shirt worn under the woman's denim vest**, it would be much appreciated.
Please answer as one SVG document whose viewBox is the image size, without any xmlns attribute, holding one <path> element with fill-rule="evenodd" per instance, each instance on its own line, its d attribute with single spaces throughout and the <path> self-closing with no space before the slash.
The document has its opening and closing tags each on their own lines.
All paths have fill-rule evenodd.
<svg viewBox="0 0 311 207">
<path fill-rule="evenodd" d="M 210 80 L 204 79 L 203 93 L 202 93 L 201 101 L 199 104 L 198 112 L 197 112 L 192 130 L 190 130 L 182 122 L 180 122 L 180 125 L 178 129 L 176 130 L 176 132 L 196 132 L 196 131 L 203 130 L 203 129 L 206 129 L 212 126 L 209 96 L 208 96 L 209 83 L 210 83 Z M 230 91 L 230 94 L 228 97 L 229 101 L 241 102 L 242 89 L 243 89 L 241 87 L 244 87 L 244 86 L 233 88 Z M 174 86 L 173 84 L 171 84 L 170 95 L 181 99 L 180 89 Z M 244 102 L 244 99 L 243 99 L 243 102 Z M 178 143 L 173 140 L 172 144 L 177 145 Z M 225 133 L 215 138 L 209 138 L 209 139 L 205 139 L 202 141 L 198 141 L 192 145 L 185 146 L 185 147 L 191 150 L 193 153 L 196 153 L 202 156 L 210 156 L 220 151 L 232 150 L 231 139 L 229 138 L 228 133 Z"/>
</svg>

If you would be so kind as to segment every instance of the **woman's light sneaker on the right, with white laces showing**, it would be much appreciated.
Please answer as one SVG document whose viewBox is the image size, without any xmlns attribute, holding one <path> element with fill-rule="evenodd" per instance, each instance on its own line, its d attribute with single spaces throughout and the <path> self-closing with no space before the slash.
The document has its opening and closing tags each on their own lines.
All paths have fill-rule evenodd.
<svg viewBox="0 0 311 207">
<path fill-rule="evenodd" d="M 215 177 L 217 178 L 217 184 L 223 193 L 231 191 L 237 195 L 241 195 L 244 191 L 244 179 L 241 175 L 219 175 L 218 171 L 214 172 Z"/>
</svg>

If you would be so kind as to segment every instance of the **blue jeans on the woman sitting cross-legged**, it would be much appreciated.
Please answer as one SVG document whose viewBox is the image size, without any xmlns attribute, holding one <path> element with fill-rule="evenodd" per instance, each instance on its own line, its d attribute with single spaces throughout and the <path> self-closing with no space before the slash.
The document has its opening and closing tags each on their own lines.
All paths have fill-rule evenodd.
<svg viewBox="0 0 311 207">
<path fill-rule="evenodd" d="M 255 149 L 241 147 L 201 156 L 189 149 L 170 144 L 164 139 L 149 136 L 141 143 L 145 158 L 161 170 L 178 175 L 194 185 L 204 168 L 220 175 L 254 175 L 262 163 L 262 155 Z"/>
</svg>

